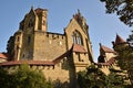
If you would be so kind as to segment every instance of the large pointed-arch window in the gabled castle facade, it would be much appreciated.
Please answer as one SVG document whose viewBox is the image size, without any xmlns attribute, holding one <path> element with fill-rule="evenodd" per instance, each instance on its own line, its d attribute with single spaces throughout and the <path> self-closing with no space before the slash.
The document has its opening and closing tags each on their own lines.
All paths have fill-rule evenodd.
<svg viewBox="0 0 133 88">
<path fill-rule="evenodd" d="M 81 33 L 78 31 L 74 31 L 72 33 L 72 41 L 74 44 L 83 45 L 83 40 L 82 40 Z"/>
</svg>

